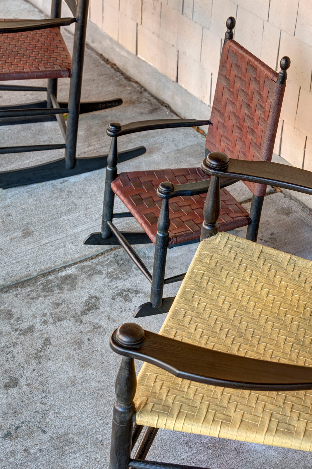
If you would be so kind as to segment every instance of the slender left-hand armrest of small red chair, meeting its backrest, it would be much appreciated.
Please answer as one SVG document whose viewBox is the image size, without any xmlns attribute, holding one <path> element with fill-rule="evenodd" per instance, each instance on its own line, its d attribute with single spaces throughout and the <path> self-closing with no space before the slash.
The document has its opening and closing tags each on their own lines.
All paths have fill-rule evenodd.
<svg viewBox="0 0 312 469">
<path fill-rule="evenodd" d="M 209 124 L 211 122 L 208 119 L 202 121 L 197 121 L 196 119 L 156 119 L 152 121 L 130 122 L 130 124 L 125 125 L 120 125 L 119 122 L 111 122 L 106 133 L 110 137 L 119 137 L 135 132 L 145 132 L 146 130 L 174 129 L 176 127 L 195 127 Z"/>
</svg>

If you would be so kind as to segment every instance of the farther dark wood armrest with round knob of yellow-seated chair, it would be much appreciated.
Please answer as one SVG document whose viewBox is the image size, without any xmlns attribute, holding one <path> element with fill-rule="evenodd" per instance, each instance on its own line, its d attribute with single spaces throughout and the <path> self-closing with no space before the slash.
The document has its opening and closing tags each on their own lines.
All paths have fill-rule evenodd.
<svg viewBox="0 0 312 469">
<path fill-rule="evenodd" d="M 269 184 L 312 195 L 312 173 L 294 166 L 272 161 L 232 159 L 224 153 L 213 151 L 203 160 L 202 169 L 211 176 Z"/>
</svg>

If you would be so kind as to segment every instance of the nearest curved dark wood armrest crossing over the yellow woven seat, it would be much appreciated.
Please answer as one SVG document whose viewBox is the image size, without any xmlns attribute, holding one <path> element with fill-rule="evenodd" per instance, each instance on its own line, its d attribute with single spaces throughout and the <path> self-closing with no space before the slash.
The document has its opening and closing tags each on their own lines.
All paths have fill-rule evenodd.
<svg viewBox="0 0 312 469">
<path fill-rule="evenodd" d="M 110 347 L 178 378 L 234 389 L 290 391 L 312 389 L 312 367 L 257 360 L 198 347 L 127 323 L 116 329 Z"/>
</svg>

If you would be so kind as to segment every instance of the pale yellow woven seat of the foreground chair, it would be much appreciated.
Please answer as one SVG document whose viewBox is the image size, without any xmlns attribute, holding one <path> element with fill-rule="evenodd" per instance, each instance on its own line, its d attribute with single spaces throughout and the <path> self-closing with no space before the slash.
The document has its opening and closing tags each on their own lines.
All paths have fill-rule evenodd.
<svg viewBox="0 0 312 469">
<path fill-rule="evenodd" d="M 312 366 L 312 262 L 232 234 L 200 243 L 160 334 Z M 312 390 L 255 392 L 176 378 L 145 363 L 139 425 L 311 451 Z"/>
</svg>

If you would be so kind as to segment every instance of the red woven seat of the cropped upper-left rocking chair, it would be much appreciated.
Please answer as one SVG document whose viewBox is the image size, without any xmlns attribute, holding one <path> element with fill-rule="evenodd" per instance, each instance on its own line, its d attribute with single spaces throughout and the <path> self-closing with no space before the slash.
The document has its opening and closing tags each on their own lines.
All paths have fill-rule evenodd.
<svg viewBox="0 0 312 469">
<path fill-rule="evenodd" d="M 0 81 L 69 77 L 71 67 L 58 28 L 0 34 Z"/>
</svg>

